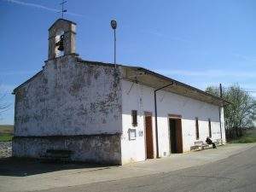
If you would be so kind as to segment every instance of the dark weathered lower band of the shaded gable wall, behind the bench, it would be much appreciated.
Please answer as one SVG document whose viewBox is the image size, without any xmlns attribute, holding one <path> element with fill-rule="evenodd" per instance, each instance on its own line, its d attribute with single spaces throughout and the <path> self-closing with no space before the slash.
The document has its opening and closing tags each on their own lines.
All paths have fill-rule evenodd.
<svg viewBox="0 0 256 192">
<path fill-rule="evenodd" d="M 13 156 L 42 158 L 47 149 L 70 150 L 71 160 L 121 164 L 120 135 L 14 137 Z"/>
</svg>

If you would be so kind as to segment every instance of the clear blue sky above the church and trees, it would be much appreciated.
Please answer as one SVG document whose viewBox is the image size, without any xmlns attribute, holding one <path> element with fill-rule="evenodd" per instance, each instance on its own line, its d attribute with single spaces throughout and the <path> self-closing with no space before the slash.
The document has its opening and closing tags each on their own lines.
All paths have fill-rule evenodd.
<svg viewBox="0 0 256 192">
<path fill-rule="evenodd" d="M 10 93 L 44 66 L 48 28 L 61 1 L 0 0 L 0 83 L 11 107 L 0 124 L 14 122 Z M 109 0 L 67 2 L 65 18 L 78 24 L 77 53 L 90 61 L 117 61 L 165 74 L 204 90 L 241 84 L 256 96 L 256 1 Z"/>
</svg>

